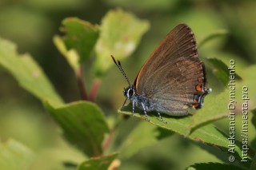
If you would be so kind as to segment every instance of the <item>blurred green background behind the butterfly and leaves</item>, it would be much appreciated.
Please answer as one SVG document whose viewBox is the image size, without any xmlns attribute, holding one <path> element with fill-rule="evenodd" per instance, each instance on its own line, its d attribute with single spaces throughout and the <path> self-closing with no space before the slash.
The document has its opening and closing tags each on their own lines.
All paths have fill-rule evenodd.
<svg viewBox="0 0 256 170">
<path fill-rule="evenodd" d="M 233 58 L 237 61 L 238 73 L 256 63 L 254 0 L 1 0 L 0 37 L 17 43 L 19 53 L 30 53 L 66 102 L 78 101 L 74 73 L 54 46 L 52 38 L 54 34 L 60 34 L 59 27 L 64 18 L 78 17 L 100 24 L 106 12 L 116 7 L 150 22 L 150 30 L 143 36 L 136 51 L 122 61 L 130 81 L 134 81 L 142 63 L 178 23 L 188 24 L 198 42 L 216 30 L 227 30 L 227 35 L 199 47 L 202 57 L 217 57 L 227 65 Z M 90 80 L 90 73 L 85 73 L 85 77 Z M 12 138 L 32 148 L 39 155 L 36 164 L 42 164 L 42 169 L 61 169 L 62 160 L 84 160 L 81 152 L 62 139 L 58 126 L 45 112 L 41 101 L 20 88 L 17 81 L 2 68 L 0 80 L 1 140 Z M 211 78 L 209 84 L 222 86 L 220 81 Z M 126 81 L 117 68 L 111 68 L 102 81 L 96 99 L 110 121 L 117 117 L 115 110 L 124 100 L 123 87 L 126 87 Z M 86 88 L 90 89 L 90 83 Z M 46 161 L 49 164 L 43 164 Z M 123 160 L 122 169 L 154 166 L 159 169 L 184 169 L 196 162 L 209 161 L 220 160 L 175 135 L 159 141 L 154 147 L 143 149 L 129 160 Z"/>
</svg>

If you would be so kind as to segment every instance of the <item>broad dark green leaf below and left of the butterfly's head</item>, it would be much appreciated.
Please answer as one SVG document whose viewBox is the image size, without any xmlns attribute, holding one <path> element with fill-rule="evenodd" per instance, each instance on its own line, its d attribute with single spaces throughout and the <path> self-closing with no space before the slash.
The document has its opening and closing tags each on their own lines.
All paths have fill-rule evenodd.
<svg viewBox="0 0 256 170">
<path fill-rule="evenodd" d="M 45 106 L 71 144 L 82 149 L 88 156 L 102 154 L 102 140 L 109 128 L 98 105 L 78 101 L 58 108 L 47 102 Z"/>
</svg>

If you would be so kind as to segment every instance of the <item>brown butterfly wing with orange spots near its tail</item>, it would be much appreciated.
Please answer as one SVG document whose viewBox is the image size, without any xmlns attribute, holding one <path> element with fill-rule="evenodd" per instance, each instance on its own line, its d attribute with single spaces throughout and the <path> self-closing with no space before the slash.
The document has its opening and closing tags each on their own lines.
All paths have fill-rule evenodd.
<svg viewBox="0 0 256 170">
<path fill-rule="evenodd" d="M 206 78 L 192 30 L 180 24 L 167 34 L 142 66 L 134 85 L 162 113 L 182 115 L 201 107 Z M 199 105 L 200 104 L 200 105 Z"/>
</svg>

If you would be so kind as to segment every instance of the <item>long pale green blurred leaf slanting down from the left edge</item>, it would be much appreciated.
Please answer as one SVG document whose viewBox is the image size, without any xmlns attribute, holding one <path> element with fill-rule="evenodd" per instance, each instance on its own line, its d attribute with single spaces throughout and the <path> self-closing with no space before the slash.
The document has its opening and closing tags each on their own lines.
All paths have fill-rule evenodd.
<svg viewBox="0 0 256 170">
<path fill-rule="evenodd" d="M 0 65 L 10 72 L 18 83 L 41 101 L 62 105 L 62 99 L 29 54 L 18 54 L 12 42 L 0 38 Z"/>
</svg>

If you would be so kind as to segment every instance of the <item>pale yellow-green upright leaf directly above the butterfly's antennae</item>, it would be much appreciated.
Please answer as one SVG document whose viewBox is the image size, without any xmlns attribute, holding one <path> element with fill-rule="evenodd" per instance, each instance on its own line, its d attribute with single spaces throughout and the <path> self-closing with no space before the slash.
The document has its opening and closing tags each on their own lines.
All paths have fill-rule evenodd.
<svg viewBox="0 0 256 170">
<path fill-rule="evenodd" d="M 114 65 L 110 55 L 122 60 L 134 52 L 149 23 L 121 9 L 110 10 L 100 26 L 100 37 L 96 45 L 97 58 L 94 73 L 101 76 Z"/>
</svg>

